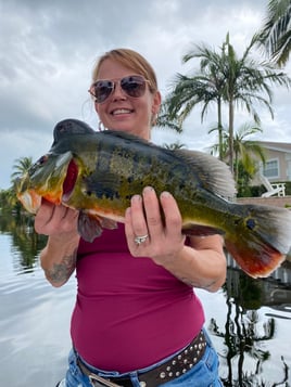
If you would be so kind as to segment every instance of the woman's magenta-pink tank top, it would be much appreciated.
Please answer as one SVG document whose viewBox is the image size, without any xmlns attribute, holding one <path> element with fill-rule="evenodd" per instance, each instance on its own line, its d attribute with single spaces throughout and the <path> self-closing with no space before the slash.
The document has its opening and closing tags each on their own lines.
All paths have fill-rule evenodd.
<svg viewBox="0 0 291 387">
<path fill-rule="evenodd" d="M 204 323 L 193 289 L 150 258 L 134 258 L 124 225 L 80 241 L 71 335 L 104 371 L 143 369 L 187 346 Z"/>
</svg>

